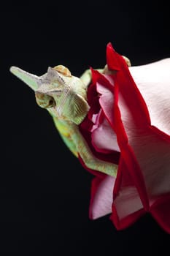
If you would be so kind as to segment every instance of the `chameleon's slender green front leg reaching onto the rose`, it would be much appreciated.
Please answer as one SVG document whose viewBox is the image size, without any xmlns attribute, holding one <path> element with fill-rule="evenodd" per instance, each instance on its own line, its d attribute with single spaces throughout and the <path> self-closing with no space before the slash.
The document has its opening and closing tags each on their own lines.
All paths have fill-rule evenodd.
<svg viewBox="0 0 170 256">
<path fill-rule="evenodd" d="M 82 137 L 79 128 L 73 124 L 71 129 L 72 131 L 70 130 L 70 135 L 75 145 L 77 146 L 77 152 L 78 154 L 80 154 L 80 157 L 82 157 L 82 160 L 83 162 L 85 162 L 85 165 L 90 169 L 98 170 L 102 173 L 106 173 L 109 176 L 116 176 L 117 165 L 96 158 L 90 151 L 88 143 Z"/>
</svg>

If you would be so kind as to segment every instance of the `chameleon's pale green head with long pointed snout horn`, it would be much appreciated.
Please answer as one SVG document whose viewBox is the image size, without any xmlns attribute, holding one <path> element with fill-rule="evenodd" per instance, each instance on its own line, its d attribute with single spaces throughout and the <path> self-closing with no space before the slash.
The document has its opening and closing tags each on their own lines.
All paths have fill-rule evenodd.
<svg viewBox="0 0 170 256">
<path fill-rule="evenodd" d="M 80 124 L 87 115 L 85 85 L 66 67 L 48 67 L 47 73 L 40 77 L 18 67 L 11 67 L 10 71 L 34 90 L 37 104 L 52 116 Z"/>
</svg>

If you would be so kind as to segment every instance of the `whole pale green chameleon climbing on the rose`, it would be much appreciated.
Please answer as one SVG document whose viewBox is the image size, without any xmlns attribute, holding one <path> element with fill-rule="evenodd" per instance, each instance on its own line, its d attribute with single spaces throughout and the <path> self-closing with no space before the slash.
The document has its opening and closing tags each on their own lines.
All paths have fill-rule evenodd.
<svg viewBox="0 0 170 256">
<path fill-rule="evenodd" d="M 130 66 L 128 58 L 123 57 Z M 89 110 L 87 88 L 91 80 L 90 69 L 80 78 L 73 76 L 69 69 L 62 65 L 48 67 L 47 73 L 40 77 L 18 67 L 11 67 L 10 71 L 34 90 L 37 104 L 46 108 L 53 117 L 61 138 L 76 157 L 80 155 L 90 169 L 116 176 L 117 165 L 96 158 L 78 127 Z M 98 71 L 105 74 L 111 72 L 107 65 Z"/>
</svg>

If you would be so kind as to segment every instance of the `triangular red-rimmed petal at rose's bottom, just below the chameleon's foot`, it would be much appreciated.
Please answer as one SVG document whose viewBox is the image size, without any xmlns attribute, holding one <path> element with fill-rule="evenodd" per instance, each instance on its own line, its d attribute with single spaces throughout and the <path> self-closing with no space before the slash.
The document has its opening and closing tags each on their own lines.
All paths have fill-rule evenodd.
<svg viewBox="0 0 170 256">
<path fill-rule="evenodd" d="M 120 159 L 119 170 L 114 188 L 114 203 L 110 219 L 117 230 L 128 227 L 144 214 L 142 201 L 131 175 L 128 173 L 123 158 Z"/>
</svg>

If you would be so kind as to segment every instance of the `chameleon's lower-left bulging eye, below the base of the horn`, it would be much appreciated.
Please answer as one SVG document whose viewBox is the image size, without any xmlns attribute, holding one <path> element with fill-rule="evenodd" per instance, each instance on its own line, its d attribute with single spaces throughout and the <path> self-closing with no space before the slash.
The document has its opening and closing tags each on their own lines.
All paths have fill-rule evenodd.
<svg viewBox="0 0 170 256">
<path fill-rule="evenodd" d="M 55 106 L 55 99 L 47 94 L 43 94 L 42 92 L 36 91 L 36 103 L 41 108 L 52 108 Z"/>
</svg>

